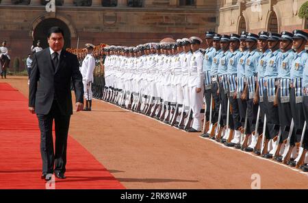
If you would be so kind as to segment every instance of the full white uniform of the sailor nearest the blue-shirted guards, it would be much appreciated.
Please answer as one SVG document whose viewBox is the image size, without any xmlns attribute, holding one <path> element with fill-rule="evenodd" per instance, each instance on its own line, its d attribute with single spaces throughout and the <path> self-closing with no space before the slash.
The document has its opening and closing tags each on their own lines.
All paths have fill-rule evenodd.
<svg viewBox="0 0 308 203">
<path fill-rule="evenodd" d="M 192 128 L 200 131 L 202 126 L 201 108 L 203 106 L 203 54 L 200 50 L 195 51 L 190 58 L 190 78 L 188 86 L 190 88 L 190 108 L 192 108 Z M 199 93 L 196 93 L 196 88 L 201 88 Z"/>
</svg>

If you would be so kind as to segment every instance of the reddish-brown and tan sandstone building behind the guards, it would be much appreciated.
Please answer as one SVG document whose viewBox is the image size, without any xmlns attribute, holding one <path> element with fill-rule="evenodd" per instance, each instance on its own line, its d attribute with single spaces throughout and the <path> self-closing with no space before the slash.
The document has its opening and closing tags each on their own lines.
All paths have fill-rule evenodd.
<svg viewBox="0 0 308 203">
<path fill-rule="evenodd" d="M 11 58 L 24 58 L 38 39 L 47 46 L 47 29 L 64 28 L 66 47 L 85 43 L 138 45 L 162 38 L 219 33 L 307 29 L 298 17 L 305 0 L 1 0 L 0 40 Z"/>
</svg>

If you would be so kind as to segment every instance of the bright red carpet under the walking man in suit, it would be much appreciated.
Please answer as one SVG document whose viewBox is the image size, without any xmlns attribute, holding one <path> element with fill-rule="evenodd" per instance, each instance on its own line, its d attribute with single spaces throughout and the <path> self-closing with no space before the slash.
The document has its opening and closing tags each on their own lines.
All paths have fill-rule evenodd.
<svg viewBox="0 0 308 203">
<path fill-rule="evenodd" d="M 40 158 L 40 130 L 27 98 L 0 83 L 0 189 L 45 189 Z M 68 137 L 66 179 L 55 189 L 125 189 L 84 147 Z"/>
</svg>

